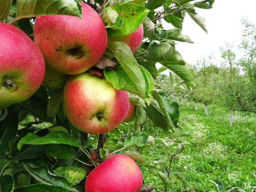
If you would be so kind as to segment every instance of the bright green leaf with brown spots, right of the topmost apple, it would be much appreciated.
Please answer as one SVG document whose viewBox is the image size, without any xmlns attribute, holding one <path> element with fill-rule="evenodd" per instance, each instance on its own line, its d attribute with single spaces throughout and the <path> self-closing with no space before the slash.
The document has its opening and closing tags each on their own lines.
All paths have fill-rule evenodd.
<svg viewBox="0 0 256 192">
<path fill-rule="evenodd" d="M 108 28 L 108 36 L 110 37 L 121 37 L 135 32 L 149 12 L 144 6 L 139 6 L 134 3 L 125 3 L 121 5 L 116 3 L 112 9 L 116 10 L 124 20 L 124 23 L 122 29 L 112 30 Z"/>
</svg>

